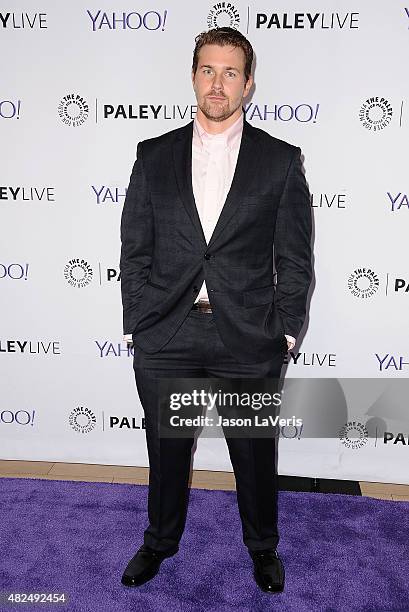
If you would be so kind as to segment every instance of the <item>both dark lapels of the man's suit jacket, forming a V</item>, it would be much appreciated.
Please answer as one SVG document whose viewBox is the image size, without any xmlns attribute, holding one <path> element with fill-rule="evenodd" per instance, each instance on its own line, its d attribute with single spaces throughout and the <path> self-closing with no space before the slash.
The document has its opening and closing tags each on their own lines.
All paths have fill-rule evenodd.
<svg viewBox="0 0 409 612">
<path fill-rule="evenodd" d="M 180 130 L 173 145 L 173 161 L 175 166 L 176 180 L 183 205 L 195 226 L 200 239 L 206 245 L 199 213 L 193 195 L 192 186 L 192 135 L 193 121 Z M 233 175 L 230 190 L 227 194 L 224 206 L 214 228 L 208 246 L 214 244 L 226 227 L 232 215 L 237 211 L 240 201 L 247 191 L 249 178 L 256 168 L 257 146 L 256 130 L 251 127 L 244 117 L 243 134 L 241 137 L 240 150 L 237 158 L 236 169 Z"/>
</svg>

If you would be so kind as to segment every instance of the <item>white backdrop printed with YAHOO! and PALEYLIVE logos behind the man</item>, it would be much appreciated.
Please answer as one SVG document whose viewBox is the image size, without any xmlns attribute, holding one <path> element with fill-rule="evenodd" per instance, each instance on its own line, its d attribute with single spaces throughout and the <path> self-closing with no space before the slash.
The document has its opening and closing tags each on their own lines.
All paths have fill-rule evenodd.
<svg viewBox="0 0 409 612">
<path fill-rule="evenodd" d="M 247 120 L 302 148 L 311 191 L 315 278 L 286 376 L 294 411 L 302 398 L 339 435 L 282 427 L 280 473 L 409 483 L 394 395 L 409 373 L 409 4 L 381 0 L 2 0 L 1 458 L 147 465 L 121 211 L 137 143 L 195 116 L 194 37 L 223 25 L 256 54 Z M 231 470 L 225 441 L 200 438 L 195 467 Z"/>
</svg>

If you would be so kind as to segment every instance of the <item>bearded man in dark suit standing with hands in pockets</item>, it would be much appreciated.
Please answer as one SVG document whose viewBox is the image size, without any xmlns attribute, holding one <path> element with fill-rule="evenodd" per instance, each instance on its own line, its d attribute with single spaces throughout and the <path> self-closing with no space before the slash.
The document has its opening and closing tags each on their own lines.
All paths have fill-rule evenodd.
<svg viewBox="0 0 409 612">
<path fill-rule="evenodd" d="M 192 65 L 197 116 L 140 142 L 132 170 L 121 287 L 150 476 L 149 526 L 122 576 L 126 586 L 159 571 L 185 525 L 194 439 L 159 435 L 156 379 L 279 377 L 306 314 L 311 209 L 301 151 L 245 120 L 252 60 L 237 30 L 200 34 Z M 267 592 L 281 591 L 275 439 L 226 441 L 255 579 Z"/>
</svg>

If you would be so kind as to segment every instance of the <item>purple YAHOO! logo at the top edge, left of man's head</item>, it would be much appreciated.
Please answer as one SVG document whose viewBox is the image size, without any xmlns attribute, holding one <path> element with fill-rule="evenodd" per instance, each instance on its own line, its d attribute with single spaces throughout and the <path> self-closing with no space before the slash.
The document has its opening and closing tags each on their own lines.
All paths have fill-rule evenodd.
<svg viewBox="0 0 409 612">
<path fill-rule="evenodd" d="M 162 30 L 165 29 L 167 10 L 163 13 L 158 11 L 147 11 L 146 13 L 105 13 L 101 9 L 93 15 L 88 11 L 88 17 L 92 22 L 92 31 L 107 30 Z"/>
</svg>

